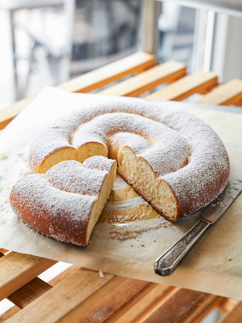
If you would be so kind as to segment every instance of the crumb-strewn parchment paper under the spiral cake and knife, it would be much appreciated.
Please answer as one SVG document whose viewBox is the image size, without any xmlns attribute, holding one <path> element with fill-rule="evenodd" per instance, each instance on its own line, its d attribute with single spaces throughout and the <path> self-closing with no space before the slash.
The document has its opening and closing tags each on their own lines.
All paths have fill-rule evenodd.
<svg viewBox="0 0 242 323">
<path fill-rule="evenodd" d="M 226 297 L 242 298 L 242 195 L 214 224 L 171 276 L 155 274 L 155 259 L 199 218 L 191 215 L 175 224 L 148 230 L 131 239 L 117 239 L 97 226 L 88 247 L 62 243 L 36 233 L 12 212 L 9 193 L 31 172 L 28 151 L 33 136 L 51 120 L 86 102 L 105 96 L 46 88 L 0 133 L 0 246 L 20 253 L 64 261 L 107 273 L 180 286 Z M 124 98 L 126 99 L 126 98 Z M 134 99 L 136 100 L 136 99 Z M 224 142 L 230 158 L 229 182 L 242 175 L 242 115 L 175 105 L 207 122 Z M 164 223 L 165 220 L 163 221 Z M 142 246 L 144 245 L 144 246 Z M 231 257 L 231 260 L 227 258 Z"/>
</svg>

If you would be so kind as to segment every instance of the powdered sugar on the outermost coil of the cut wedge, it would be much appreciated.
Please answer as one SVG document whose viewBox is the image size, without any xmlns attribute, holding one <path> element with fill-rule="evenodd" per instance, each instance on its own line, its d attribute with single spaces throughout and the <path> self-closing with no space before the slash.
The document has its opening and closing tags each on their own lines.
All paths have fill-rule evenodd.
<svg viewBox="0 0 242 323">
<path fill-rule="evenodd" d="M 12 207 L 19 216 L 31 209 L 39 218 L 65 217 L 69 221 L 87 221 L 96 196 L 59 190 L 42 175 L 29 174 L 18 181 L 11 192 Z M 50 221 L 51 223 L 51 221 Z M 35 227 L 34 223 L 31 224 Z M 75 225 L 74 225 L 75 226 Z"/>
</svg>

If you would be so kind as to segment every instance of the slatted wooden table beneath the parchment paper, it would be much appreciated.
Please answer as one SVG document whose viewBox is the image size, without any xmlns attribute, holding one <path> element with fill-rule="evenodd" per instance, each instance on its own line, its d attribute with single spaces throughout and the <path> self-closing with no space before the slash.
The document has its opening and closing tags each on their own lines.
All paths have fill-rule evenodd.
<svg viewBox="0 0 242 323">
<path fill-rule="evenodd" d="M 127 78 L 129 76 L 129 78 Z M 124 79 L 125 78 L 125 79 Z M 119 81 L 102 89 L 108 83 Z M 151 90 L 166 83 L 162 89 Z M 156 58 L 138 52 L 59 85 L 72 92 L 182 100 L 202 94 L 198 103 L 242 106 L 242 80 L 218 84 L 213 72 L 186 74 L 176 61 L 156 65 Z M 147 92 L 147 93 L 146 93 Z M 0 111 L 3 129 L 31 100 Z M 71 266 L 45 283 L 37 278 L 56 262 L 0 249 L 0 297 L 15 306 L 2 322 L 200 322 L 212 309 L 225 313 L 220 323 L 242 322 L 242 303 L 208 293 L 149 283 Z M 226 282 L 225 282 L 226 284 Z"/>
</svg>

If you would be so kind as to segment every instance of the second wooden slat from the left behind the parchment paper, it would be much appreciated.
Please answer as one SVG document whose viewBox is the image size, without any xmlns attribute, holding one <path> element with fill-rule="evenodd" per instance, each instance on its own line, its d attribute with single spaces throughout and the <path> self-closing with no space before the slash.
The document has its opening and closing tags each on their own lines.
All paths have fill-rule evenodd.
<svg viewBox="0 0 242 323">
<path fill-rule="evenodd" d="M 135 97 L 161 83 L 171 83 L 185 75 L 186 65 L 171 60 L 104 89 L 98 94 Z"/>
</svg>

